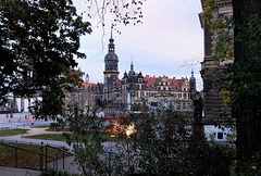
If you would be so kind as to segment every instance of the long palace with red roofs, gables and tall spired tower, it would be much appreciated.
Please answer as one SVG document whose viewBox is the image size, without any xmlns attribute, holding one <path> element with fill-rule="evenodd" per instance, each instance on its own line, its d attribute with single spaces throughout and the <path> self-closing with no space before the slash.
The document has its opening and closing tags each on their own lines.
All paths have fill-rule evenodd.
<svg viewBox="0 0 261 176">
<path fill-rule="evenodd" d="M 191 111 L 192 100 L 196 95 L 196 78 L 177 79 L 165 75 L 151 77 L 136 73 L 132 62 L 130 70 L 125 71 L 122 78 L 119 77 L 119 56 L 115 53 L 114 39 L 109 39 L 108 54 L 104 56 L 103 84 L 89 83 L 86 75 L 85 83 L 74 92 L 65 93 L 65 105 L 77 103 L 82 109 L 98 106 L 105 109 L 113 106 L 126 111 L 134 102 L 153 101 L 159 97 L 172 100 L 174 108 L 181 111 Z"/>
</svg>

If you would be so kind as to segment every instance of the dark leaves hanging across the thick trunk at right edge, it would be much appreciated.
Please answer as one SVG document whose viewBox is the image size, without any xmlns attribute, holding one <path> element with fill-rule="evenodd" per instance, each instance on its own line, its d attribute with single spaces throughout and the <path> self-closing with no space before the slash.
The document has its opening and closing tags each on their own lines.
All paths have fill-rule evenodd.
<svg viewBox="0 0 261 176">
<path fill-rule="evenodd" d="M 245 115 L 260 114 L 261 103 L 261 20 L 259 15 L 249 18 L 249 23 L 240 26 L 243 30 L 235 40 L 247 46 L 251 55 L 237 58 L 236 64 L 227 66 L 228 80 L 231 84 L 231 105 L 245 110 Z M 244 102 L 243 102 L 244 101 Z M 246 102 L 247 101 L 247 102 Z"/>
</svg>

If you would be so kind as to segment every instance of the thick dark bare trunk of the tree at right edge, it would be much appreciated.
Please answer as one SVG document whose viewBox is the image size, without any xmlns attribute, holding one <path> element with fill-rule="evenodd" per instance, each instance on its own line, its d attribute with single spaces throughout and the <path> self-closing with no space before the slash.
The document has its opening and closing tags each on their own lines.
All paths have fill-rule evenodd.
<svg viewBox="0 0 261 176">
<path fill-rule="evenodd" d="M 246 29 L 243 29 L 241 26 L 246 26 L 249 17 L 253 14 L 261 14 L 261 0 L 233 0 L 233 13 L 235 18 L 235 64 L 247 63 L 256 54 L 250 51 L 248 45 L 236 39 L 246 34 Z M 238 106 L 233 111 L 233 116 L 236 117 L 237 123 L 236 146 L 239 162 L 251 162 L 254 153 L 261 150 L 261 114 L 251 113 L 252 111 L 244 108 L 248 102 L 251 102 L 251 98 L 244 97 L 237 102 Z M 256 105 L 257 109 L 259 105 Z"/>
</svg>

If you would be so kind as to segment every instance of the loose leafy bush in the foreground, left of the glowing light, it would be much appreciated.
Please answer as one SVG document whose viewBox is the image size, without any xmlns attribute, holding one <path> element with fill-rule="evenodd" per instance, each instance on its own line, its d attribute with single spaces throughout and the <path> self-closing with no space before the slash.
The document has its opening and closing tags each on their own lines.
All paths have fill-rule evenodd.
<svg viewBox="0 0 261 176">
<path fill-rule="evenodd" d="M 64 134 L 66 142 L 73 146 L 75 162 L 84 175 L 102 175 L 105 161 L 100 158 L 104 153 L 104 139 L 99 131 L 103 129 L 102 120 L 97 120 L 96 112 L 87 111 L 86 115 L 74 105 L 66 116 L 72 134 Z"/>
</svg>

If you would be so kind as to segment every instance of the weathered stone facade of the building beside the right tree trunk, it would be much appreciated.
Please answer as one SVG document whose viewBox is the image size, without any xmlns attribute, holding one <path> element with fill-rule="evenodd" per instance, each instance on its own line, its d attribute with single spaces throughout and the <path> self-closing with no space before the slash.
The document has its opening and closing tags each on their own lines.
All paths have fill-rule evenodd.
<svg viewBox="0 0 261 176">
<path fill-rule="evenodd" d="M 201 0 L 202 9 L 204 0 Z M 232 15 L 231 0 L 216 0 L 217 7 L 213 12 L 213 21 L 221 20 L 224 15 Z M 210 23 L 201 18 L 201 27 L 204 37 L 204 58 L 201 62 L 201 77 L 203 79 L 203 109 L 204 118 L 210 121 L 226 120 L 231 117 L 231 109 L 224 104 L 220 92 L 223 88 L 227 88 L 228 84 L 225 81 L 226 61 L 216 61 L 213 56 L 214 38 L 216 34 L 210 33 Z"/>
</svg>

